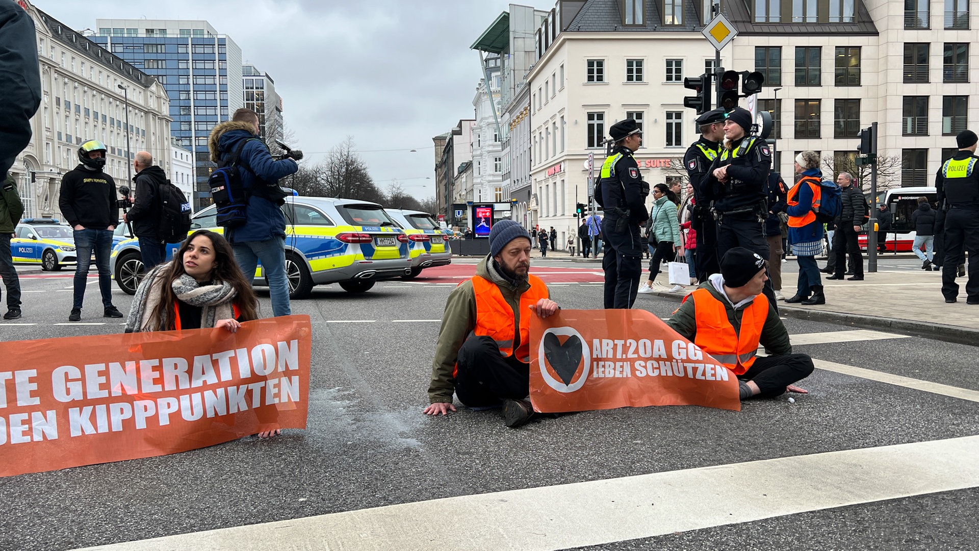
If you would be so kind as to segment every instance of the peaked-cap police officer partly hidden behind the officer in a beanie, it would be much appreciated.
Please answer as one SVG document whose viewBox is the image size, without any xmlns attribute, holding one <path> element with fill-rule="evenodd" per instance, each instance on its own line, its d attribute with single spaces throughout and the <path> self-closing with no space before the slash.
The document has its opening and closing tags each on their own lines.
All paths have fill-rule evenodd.
<svg viewBox="0 0 979 551">
<path fill-rule="evenodd" d="M 709 275 L 721 271 L 717 256 L 717 223 L 711 214 L 710 200 L 704 192 L 704 186 L 707 184 L 708 171 L 721 152 L 724 111 L 708 111 L 698 117 L 696 123 L 700 126 L 700 138 L 686 148 L 683 166 L 686 167 L 686 174 L 693 185 L 694 206 L 690 225 L 697 233 L 697 254 L 694 258 L 697 278 L 702 283 Z"/>
</svg>

